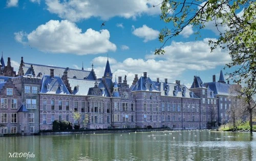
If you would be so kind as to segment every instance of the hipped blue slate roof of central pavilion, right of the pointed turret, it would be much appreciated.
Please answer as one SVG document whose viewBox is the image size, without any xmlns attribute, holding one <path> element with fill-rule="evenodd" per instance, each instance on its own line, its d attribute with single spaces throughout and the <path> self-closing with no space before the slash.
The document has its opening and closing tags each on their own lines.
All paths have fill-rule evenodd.
<svg viewBox="0 0 256 161">
<path fill-rule="evenodd" d="M 147 77 L 140 77 L 137 83 L 133 86 L 132 91 L 159 91 L 154 82 Z"/>
</svg>

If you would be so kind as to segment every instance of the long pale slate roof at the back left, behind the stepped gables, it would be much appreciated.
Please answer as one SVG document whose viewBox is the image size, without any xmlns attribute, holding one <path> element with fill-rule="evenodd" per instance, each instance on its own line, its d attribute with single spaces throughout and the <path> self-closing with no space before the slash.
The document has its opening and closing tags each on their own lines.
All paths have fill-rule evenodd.
<svg viewBox="0 0 256 161">
<path fill-rule="evenodd" d="M 31 66 L 32 65 L 32 66 Z M 67 67 L 58 67 L 58 66 L 49 66 L 49 65 L 40 65 L 40 64 L 32 64 L 32 63 L 25 63 L 23 66 L 23 71 L 25 75 L 34 75 L 35 77 L 39 76 L 39 74 L 47 75 L 50 74 L 50 69 L 54 69 L 54 75 L 61 77 L 63 72 L 68 72 L 69 78 L 76 77 L 77 79 L 89 79 L 89 80 L 96 80 L 96 76 L 93 74 L 92 71 L 84 71 L 84 70 L 76 70 Z"/>
</svg>

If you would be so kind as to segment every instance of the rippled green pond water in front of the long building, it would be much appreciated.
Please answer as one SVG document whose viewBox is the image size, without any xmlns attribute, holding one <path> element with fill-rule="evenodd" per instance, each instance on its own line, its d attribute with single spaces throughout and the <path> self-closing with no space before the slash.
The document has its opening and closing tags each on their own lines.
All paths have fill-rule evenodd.
<svg viewBox="0 0 256 161">
<path fill-rule="evenodd" d="M 256 133 L 209 130 L 0 137 L 0 160 L 256 160 Z M 14 152 L 34 157 L 14 158 Z"/>
</svg>

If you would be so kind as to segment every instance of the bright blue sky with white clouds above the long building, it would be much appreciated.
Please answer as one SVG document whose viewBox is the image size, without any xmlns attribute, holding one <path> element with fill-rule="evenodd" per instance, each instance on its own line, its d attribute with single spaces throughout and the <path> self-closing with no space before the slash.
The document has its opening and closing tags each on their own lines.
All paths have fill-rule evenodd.
<svg viewBox="0 0 256 161">
<path fill-rule="evenodd" d="M 11 57 L 18 71 L 20 57 L 25 62 L 91 70 L 103 76 L 109 56 L 113 75 L 147 72 L 168 82 L 193 82 L 194 75 L 204 82 L 219 79 L 220 70 L 230 61 L 227 51 L 210 53 L 208 39 L 218 36 L 211 22 L 195 38 L 188 26 L 181 35 L 167 41 L 164 55 L 154 51 L 162 44 L 158 34 L 172 28 L 160 20 L 161 0 L 8 0 L 0 1 L 0 51 L 5 62 Z M 102 22 L 105 22 L 101 27 Z M 224 30 L 224 29 L 223 29 Z M 223 73 L 226 73 L 223 71 Z"/>
</svg>

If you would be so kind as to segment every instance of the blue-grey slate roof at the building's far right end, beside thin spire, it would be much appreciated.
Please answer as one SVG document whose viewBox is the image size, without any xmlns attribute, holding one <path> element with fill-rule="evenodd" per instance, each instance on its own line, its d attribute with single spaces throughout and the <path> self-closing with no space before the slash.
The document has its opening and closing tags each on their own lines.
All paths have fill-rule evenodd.
<svg viewBox="0 0 256 161">
<path fill-rule="evenodd" d="M 215 95 L 229 95 L 229 88 L 232 86 L 231 84 L 220 83 L 220 82 L 208 82 L 209 88 L 214 91 Z"/>
</svg>

